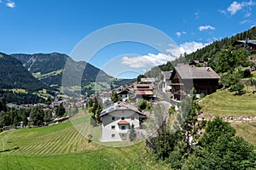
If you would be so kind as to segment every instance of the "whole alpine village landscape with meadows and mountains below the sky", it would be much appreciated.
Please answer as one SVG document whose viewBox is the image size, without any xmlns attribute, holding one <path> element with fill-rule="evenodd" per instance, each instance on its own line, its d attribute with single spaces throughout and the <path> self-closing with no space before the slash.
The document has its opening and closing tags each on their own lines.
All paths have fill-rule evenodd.
<svg viewBox="0 0 256 170">
<path fill-rule="evenodd" d="M 256 169 L 256 27 L 76 96 L 67 59 L 0 54 L 0 169 Z"/>
</svg>

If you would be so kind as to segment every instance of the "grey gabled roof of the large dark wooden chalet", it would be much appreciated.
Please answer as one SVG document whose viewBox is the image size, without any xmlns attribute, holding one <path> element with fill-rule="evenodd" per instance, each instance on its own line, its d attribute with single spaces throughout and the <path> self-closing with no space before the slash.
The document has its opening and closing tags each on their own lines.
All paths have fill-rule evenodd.
<svg viewBox="0 0 256 170">
<path fill-rule="evenodd" d="M 182 79 L 219 79 L 218 74 L 211 67 L 175 67 L 175 71 Z"/>
</svg>

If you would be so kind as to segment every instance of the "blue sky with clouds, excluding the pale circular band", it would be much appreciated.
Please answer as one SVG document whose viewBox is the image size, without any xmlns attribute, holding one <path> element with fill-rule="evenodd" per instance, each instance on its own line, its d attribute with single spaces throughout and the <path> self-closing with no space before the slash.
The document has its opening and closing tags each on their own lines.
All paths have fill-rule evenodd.
<svg viewBox="0 0 256 170">
<path fill-rule="evenodd" d="M 181 54 L 189 54 L 208 43 L 256 26 L 256 1 L 250 0 L 0 2 L 0 51 L 6 54 L 72 54 L 77 44 L 92 32 L 122 23 L 137 23 L 162 31 L 177 44 Z M 86 48 L 90 47 L 84 50 Z M 137 42 L 119 42 L 96 51 L 92 58 L 85 60 L 107 68 L 108 62 L 116 59 L 116 65 L 125 66 L 123 70 L 136 68 L 135 72 L 141 73 L 171 59 L 172 54 L 167 53 L 168 49 L 162 54 Z M 135 67 L 138 62 L 151 65 Z M 113 76 L 122 74 L 107 72 Z"/>
</svg>

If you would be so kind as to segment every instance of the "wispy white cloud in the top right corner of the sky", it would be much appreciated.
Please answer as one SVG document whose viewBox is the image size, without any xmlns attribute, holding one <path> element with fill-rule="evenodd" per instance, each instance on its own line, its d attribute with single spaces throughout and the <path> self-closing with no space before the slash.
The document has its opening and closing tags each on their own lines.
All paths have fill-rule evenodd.
<svg viewBox="0 0 256 170">
<path fill-rule="evenodd" d="M 234 1 L 233 3 L 230 4 L 230 6 L 227 8 L 227 11 L 233 15 L 236 14 L 237 11 L 241 10 L 242 8 L 246 8 L 246 10 L 244 11 L 245 17 L 249 17 L 251 16 L 251 8 L 252 6 L 256 5 L 256 3 L 254 3 L 252 0 L 248 1 L 248 2 L 241 2 L 241 3 L 237 3 L 236 1 Z"/>
</svg>

